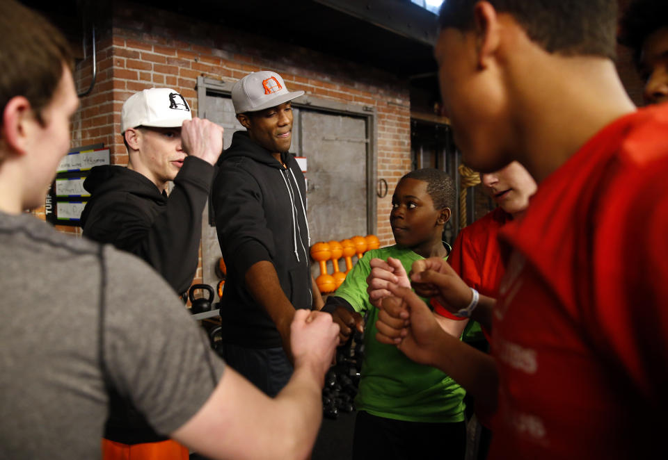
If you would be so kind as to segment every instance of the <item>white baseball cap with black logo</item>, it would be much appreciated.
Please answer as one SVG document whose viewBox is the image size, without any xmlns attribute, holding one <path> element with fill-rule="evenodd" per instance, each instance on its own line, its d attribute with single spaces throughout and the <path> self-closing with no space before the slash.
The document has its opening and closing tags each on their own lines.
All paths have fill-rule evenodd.
<svg viewBox="0 0 668 460">
<path fill-rule="evenodd" d="M 171 88 L 151 88 L 130 96 L 120 111 L 120 132 L 137 126 L 178 128 L 192 120 L 190 107 L 179 92 Z"/>
</svg>

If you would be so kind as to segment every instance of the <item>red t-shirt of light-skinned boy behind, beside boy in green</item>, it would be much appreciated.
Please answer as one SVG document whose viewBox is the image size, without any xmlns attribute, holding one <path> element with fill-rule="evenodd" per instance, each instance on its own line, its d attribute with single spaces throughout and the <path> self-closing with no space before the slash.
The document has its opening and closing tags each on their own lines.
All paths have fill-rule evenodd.
<svg viewBox="0 0 668 460">
<path fill-rule="evenodd" d="M 447 258 L 448 263 L 468 286 L 488 297 L 496 297 L 505 271 L 498 233 L 510 218 L 509 213 L 502 208 L 487 213 L 459 232 Z M 452 315 L 436 299 L 431 299 L 431 305 L 436 313 L 446 318 L 466 319 Z"/>
</svg>

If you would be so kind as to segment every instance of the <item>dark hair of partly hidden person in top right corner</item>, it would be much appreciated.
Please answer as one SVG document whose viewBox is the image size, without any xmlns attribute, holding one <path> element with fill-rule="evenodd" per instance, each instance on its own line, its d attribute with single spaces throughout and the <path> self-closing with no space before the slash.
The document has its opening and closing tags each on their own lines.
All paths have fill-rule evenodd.
<svg viewBox="0 0 668 460">
<path fill-rule="evenodd" d="M 619 22 L 617 40 L 633 50 L 633 60 L 640 67 L 642 46 L 647 37 L 668 27 L 668 1 L 635 0 L 629 4 Z"/>
</svg>

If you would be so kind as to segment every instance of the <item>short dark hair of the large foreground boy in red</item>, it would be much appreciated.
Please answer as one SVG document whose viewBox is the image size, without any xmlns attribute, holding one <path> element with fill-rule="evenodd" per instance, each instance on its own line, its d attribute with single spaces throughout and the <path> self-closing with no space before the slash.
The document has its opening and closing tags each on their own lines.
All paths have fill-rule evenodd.
<svg viewBox="0 0 668 460">
<path fill-rule="evenodd" d="M 615 58 L 617 0 L 487 0 L 509 13 L 529 38 L 549 53 Z M 447 0 L 438 16 L 440 28 L 470 31 L 479 0 Z"/>
</svg>

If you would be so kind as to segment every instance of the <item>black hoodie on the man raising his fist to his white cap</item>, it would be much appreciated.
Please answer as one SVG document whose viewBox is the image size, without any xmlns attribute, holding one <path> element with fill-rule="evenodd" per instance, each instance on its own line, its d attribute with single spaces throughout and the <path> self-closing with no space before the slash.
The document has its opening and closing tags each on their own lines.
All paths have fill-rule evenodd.
<svg viewBox="0 0 668 460">
<path fill-rule="evenodd" d="M 177 293 L 195 277 L 202 211 L 214 167 L 186 156 L 169 197 L 147 177 L 122 166 L 96 166 L 84 181 L 84 236 L 143 258 Z"/>
</svg>

